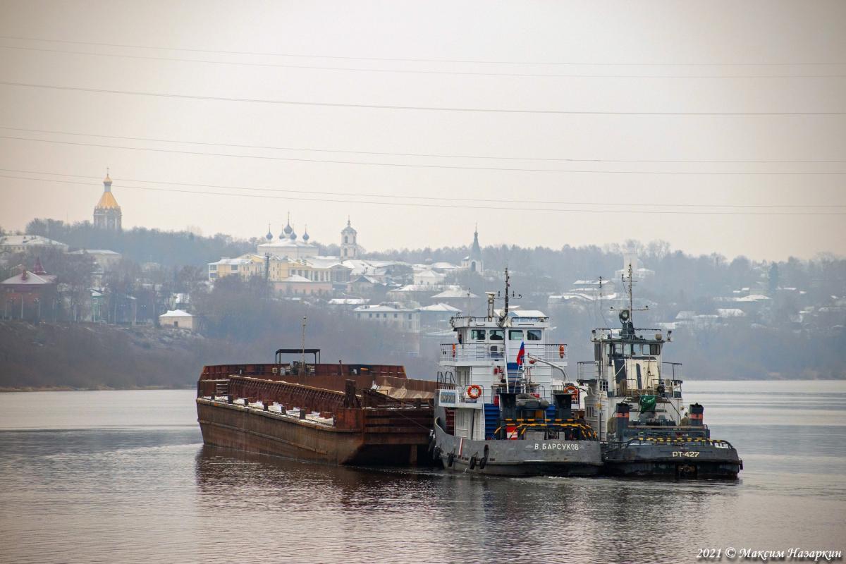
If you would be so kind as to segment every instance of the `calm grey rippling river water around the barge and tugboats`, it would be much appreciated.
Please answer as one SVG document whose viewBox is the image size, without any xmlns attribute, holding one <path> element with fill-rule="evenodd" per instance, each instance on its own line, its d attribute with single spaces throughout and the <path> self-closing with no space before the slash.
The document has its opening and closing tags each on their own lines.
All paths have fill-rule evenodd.
<svg viewBox="0 0 846 564">
<path fill-rule="evenodd" d="M 846 549 L 846 382 L 685 386 L 744 458 L 737 482 L 330 468 L 203 447 L 193 391 L 0 394 L 0 562 L 677 562 L 704 547 Z"/>
</svg>

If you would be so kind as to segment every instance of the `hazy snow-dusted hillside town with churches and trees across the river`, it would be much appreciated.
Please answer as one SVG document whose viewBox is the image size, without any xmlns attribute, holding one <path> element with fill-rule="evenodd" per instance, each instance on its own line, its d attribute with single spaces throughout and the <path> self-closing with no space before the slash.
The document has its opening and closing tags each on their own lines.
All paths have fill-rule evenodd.
<svg viewBox="0 0 846 564">
<path fill-rule="evenodd" d="M 585 250 L 582 255 L 593 253 L 593 259 L 582 256 L 584 264 L 578 266 L 564 251 L 572 255 L 579 249 L 565 248 L 558 256 L 550 255 L 551 249 L 546 255 L 537 249 L 483 250 L 478 227 L 472 238 L 467 233 L 469 244 L 403 257 L 368 253 L 349 217 L 340 222 L 332 243 L 320 244 L 307 227 L 298 234 L 288 215 L 277 234 L 271 225 L 249 242 L 226 241 L 228 246 L 203 251 L 206 257 L 214 249 L 240 252 L 214 260 L 192 256 L 165 266 L 164 260 L 140 261 L 107 248 L 110 241 L 123 241 L 131 250 L 112 187 L 107 175 L 91 223 L 80 227 L 94 233 L 89 240 L 102 241 L 103 248 L 53 238 L 47 233 L 50 223 L 43 233 L 0 235 L 4 320 L 202 332 L 210 311 L 202 305 L 208 300 L 198 296 L 219 285 L 258 282 L 268 299 L 306 304 L 362 326 L 376 324 L 401 336 L 409 355 L 437 355 L 438 343 L 451 335 L 450 319 L 481 315 L 485 292 L 503 286 L 508 266 L 522 294 L 513 307 L 542 309 L 559 329 L 579 324 L 584 332 L 602 325 L 611 309 L 627 304 L 629 282 L 642 309 L 640 319 L 665 330 L 778 328 L 785 335 L 832 336 L 842 335 L 846 322 L 846 292 L 843 277 L 838 278 L 842 260 L 791 260 L 780 266 L 741 257 L 721 264 L 721 257 L 695 258 L 662 245 L 628 242 L 609 251 Z"/>
</svg>

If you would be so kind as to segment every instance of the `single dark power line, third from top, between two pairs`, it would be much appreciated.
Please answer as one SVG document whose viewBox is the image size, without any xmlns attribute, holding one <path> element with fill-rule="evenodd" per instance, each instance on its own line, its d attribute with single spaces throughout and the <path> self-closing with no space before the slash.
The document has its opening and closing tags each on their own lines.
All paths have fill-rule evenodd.
<svg viewBox="0 0 846 564">
<path fill-rule="evenodd" d="M 567 111 L 567 110 L 514 110 L 484 107 L 436 107 L 436 106 L 392 106 L 386 104 L 354 104 L 342 102 L 320 101 L 291 101 L 271 100 L 266 98 L 234 98 L 226 96 L 192 96 L 188 94 L 173 94 L 167 92 L 140 92 L 135 90 L 107 90 L 99 88 L 82 88 L 80 86 L 36 85 L 25 82 L 0 81 L 0 85 L 19 86 L 25 88 L 45 88 L 50 90 L 71 90 L 77 92 L 91 92 L 96 94 L 123 94 L 126 96 L 152 96 L 159 98 L 173 98 L 180 100 L 203 101 L 236 101 L 254 104 L 280 104 L 288 106 L 313 107 L 354 107 L 360 109 L 380 110 L 415 110 L 424 112 L 473 112 L 473 113 L 528 113 L 540 115 L 584 115 L 584 116 L 840 116 L 846 112 L 601 112 L 601 111 Z"/>
</svg>

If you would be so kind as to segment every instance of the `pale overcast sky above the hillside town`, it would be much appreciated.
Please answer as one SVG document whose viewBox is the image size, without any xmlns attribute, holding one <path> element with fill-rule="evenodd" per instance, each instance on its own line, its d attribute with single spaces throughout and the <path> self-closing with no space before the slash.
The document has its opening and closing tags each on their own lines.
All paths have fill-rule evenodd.
<svg viewBox="0 0 846 564">
<path fill-rule="evenodd" d="M 846 3 L 0 3 L 0 226 L 846 255 Z"/>
</svg>

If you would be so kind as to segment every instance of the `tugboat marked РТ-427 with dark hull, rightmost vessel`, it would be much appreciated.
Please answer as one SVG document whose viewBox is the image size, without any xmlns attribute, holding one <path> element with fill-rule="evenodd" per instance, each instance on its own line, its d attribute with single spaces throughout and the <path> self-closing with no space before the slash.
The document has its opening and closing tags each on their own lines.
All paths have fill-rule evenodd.
<svg viewBox="0 0 846 564">
<path fill-rule="evenodd" d="M 621 326 L 594 329 L 594 360 L 579 363 L 585 419 L 603 443 L 603 473 L 736 477 L 743 468 L 738 452 L 711 439 L 700 404 L 684 407 L 681 364 L 662 362 L 673 331 L 665 338 L 657 329 L 634 328 L 631 280 L 629 266 L 629 309 L 619 311 Z"/>
</svg>

